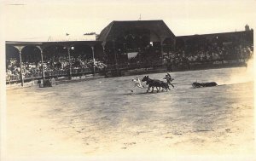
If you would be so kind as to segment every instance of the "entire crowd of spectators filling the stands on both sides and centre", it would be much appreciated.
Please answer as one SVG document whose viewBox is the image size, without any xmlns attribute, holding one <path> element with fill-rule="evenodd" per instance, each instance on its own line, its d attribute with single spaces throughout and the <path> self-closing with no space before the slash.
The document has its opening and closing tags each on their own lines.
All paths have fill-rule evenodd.
<svg viewBox="0 0 256 161">
<path fill-rule="evenodd" d="M 127 56 L 127 55 L 126 55 Z M 177 52 L 166 55 L 164 63 L 171 64 L 172 66 L 190 66 L 193 64 L 203 63 L 224 63 L 226 61 L 245 62 L 253 56 L 253 45 L 223 45 L 207 46 L 207 48 L 195 49 L 193 51 L 186 49 L 178 49 Z M 148 49 L 138 52 L 136 57 L 130 60 L 126 57 L 119 56 L 119 64 L 143 64 L 143 63 L 156 63 L 161 61 L 160 49 Z M 71 56 L 71 69 L 73 72 L 96 72 L 103 71 L 107 67 L 101 60 L 86 59 L 82 55 Z M 123 61 L 120 61 L 123 60 Z M 94 63 L 95 62 L 95 63 Z M 44 74 L 46 76 L 54 76 L 67 74 L 70 66 L 67 56 L 58 56 L 53 58 L 45 58 Z M 57 73 L 56 73 L 57 72 Z M 22 62 L 22 74 L 24 78 L 40 78 L 42 76 L 42 63 L 41 61 Z M 6 60 L 6 80 L 20 80 L 20 61 L 17 58 Z"/>
</svg>

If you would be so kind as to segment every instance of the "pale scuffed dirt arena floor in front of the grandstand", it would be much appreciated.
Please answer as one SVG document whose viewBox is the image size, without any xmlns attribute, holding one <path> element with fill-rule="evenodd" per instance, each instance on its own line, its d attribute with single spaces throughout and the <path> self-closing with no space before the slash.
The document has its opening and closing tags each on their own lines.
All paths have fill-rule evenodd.
<svg viewBox="0 0 256 161">
<path fill-rule="evenodd" d="M 7 89 L 6 156 L 253 154 L 248 68 L 171 74 L 180 84 L 158 94 L 134 88 L 135 76 Z"/>
</svg>

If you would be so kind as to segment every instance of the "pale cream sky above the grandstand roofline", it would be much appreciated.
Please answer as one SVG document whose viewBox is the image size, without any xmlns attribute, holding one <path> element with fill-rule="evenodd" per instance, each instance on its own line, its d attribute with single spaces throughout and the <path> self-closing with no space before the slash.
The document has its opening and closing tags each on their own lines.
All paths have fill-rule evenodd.
<svg viewBox="0 0 256 161">
<path fill-rule="evenodd" d="M 164 20 L 176 36 L 255 28 L 256 0 L 8 0 L 2 1 L 3 36 L 47 41 L 100 33 L 113 20 Z M 17 5 L 18 4 L 18 5 Z"/>
</svg>

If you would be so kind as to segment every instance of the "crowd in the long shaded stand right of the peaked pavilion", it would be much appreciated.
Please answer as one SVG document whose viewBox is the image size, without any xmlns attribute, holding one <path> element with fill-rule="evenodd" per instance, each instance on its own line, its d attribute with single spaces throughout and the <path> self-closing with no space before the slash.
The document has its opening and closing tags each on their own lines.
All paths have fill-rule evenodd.
<svg viewBox="0 0 256 161">
<path fill-rule="evenodd" d="M 241 46 L 209 46 L 207 49 L 196 49 L 194 52 L 178 50 L 166 56 L 165 62 L 173 66 L 189 66 L 193 64 L 220 64 L 228 61 L 246 62 L 253 56 L 253 45 Z"/>
</svg>

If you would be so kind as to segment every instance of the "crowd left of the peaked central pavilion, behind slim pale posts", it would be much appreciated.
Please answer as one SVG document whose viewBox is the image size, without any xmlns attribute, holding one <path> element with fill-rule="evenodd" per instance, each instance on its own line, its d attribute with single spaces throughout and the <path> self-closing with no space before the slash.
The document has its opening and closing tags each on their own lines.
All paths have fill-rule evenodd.
<svg viewBox="0 0 256 161">
<path fill-rule="evenodd" d="M 101 60 L 82 59 L 80 56 L 71 56 L 72 70 L 76 72 L 92 72 L 103 70 L 105 65 Z M 42 76 L 42 63 L 39 62 L 22 62 L 22 75 L 23 78 L 39 78 Z M 69 70 L 68 57 L 60 56 L 56 60 L 44 60 L 44 75 L 53 76 L 57 74 L 67 73 Z M 11 58 L 6 61 L 6 81 L 20 80 L 20 61 L 16 58 Z"/>
</svg>

